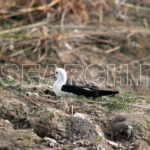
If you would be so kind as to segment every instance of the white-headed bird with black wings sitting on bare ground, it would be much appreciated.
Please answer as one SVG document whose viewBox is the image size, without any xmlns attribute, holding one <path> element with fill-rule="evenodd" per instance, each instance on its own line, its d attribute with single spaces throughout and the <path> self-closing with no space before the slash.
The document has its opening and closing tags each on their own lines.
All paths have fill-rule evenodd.
<svg viewBox="0 0 150 150">
<path fill-rule="evenodd" d="M 53 91 L 57 97 L 65 96 L 85 96 L 86 98 L 98 98 L 102 96 L 114 96 L 118 91 L 107 91 L 94 89 L 92 87 L 69 85 L 67 82 L 67 73 L 63 68 L 56 68 L 55 73 L 50 76 L 55 76 L 57 79 L 53 84 Z"/>
</svg>

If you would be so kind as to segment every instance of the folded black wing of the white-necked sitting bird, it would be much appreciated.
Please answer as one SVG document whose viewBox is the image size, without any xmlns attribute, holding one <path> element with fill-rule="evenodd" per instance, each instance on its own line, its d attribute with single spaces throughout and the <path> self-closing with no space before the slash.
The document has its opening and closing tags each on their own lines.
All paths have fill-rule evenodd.
<svg viewBox="0 0 150 150">
<path fill-rule="evenodd" d="M 97 90 L 97 89 L 86 88 L 86 87 L 76 86 L 76 85 L 69 85 L 69 84 L 63 85 L 61 90 L 63 92 L 68 92 L 79 96 L 93 97 L 93 98 L 108 96 L 108 95 L 114 96 L 115 94 L 119 93 L 118 91 Z"/>
</svg>

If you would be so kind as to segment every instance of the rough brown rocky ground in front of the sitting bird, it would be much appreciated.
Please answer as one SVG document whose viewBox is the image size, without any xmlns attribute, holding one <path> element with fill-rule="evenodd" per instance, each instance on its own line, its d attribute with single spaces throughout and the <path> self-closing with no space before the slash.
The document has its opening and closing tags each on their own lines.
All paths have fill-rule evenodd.
<svg viewBox="0 0 150 150">
<path fill-rule="evenodd" d="M 1 89 L 0 149 L 149 150 L 148 105 L 109 100 L 115 99 L 56 99 Z"/>
</svg>

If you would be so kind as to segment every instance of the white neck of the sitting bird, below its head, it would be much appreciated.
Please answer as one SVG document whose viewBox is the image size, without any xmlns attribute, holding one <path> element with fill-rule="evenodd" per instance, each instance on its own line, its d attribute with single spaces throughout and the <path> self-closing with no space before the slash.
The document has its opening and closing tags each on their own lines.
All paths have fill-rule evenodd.
<svg viewBox="0 0 150 150">
<path fill-rule="evenodd" d="M 60 96 L 61 88 L 64 84 L 66 84 L 67 76 L 58 76 L 56 82 L 54 83 L 53 90 L 56 96 Z"/>
</svg>

